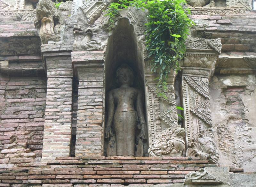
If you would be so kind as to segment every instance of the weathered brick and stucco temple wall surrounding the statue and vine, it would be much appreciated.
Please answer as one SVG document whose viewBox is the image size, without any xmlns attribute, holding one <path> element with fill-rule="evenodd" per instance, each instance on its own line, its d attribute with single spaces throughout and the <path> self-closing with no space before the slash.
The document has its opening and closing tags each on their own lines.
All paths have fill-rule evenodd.
<svg viewBox="0 0 256 187">
<path fill-rule="evenodd" d="M 250 0 L 193 2 L 163 97 L 146 12 L 121 11 L 109 31 L 108 0 L 0 0 L 0 186 L 256 186 L 256 12 Z M 122 63 L 143 93 L 133 156 L 105 135 Z"/>
</svg>

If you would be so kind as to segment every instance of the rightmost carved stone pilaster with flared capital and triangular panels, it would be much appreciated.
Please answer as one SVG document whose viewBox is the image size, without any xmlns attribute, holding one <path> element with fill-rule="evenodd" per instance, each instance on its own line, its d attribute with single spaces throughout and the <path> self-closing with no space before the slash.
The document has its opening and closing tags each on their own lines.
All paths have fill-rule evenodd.
<svg viewBox="0 0 256 187">
<path fill-rule="evenodd" d="M 189 38 L 182 64 L 182 96 L 188 156 L 200 156 L 218 162 L 216 144 L 209 133 L 212 116 L 209 95 L 209 77 L 215 69 L 221 50 L 220 39 Z M 212 132 L 212 130 L 211 130 Z"/>
</svg>

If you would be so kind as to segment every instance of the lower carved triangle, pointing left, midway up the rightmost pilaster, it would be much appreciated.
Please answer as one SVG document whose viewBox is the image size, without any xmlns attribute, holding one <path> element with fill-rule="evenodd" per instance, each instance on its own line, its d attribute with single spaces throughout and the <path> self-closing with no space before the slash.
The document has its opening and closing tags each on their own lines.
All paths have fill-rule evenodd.
<svg viewBox="0 0 256 187">
<path fill-rule="evenodd" d="M 199 117 L 200 119 L 204 120 L 206 123 L 212 126 L 210 100 L 207 99 L 196 108 L 192 108 L 190 111 L 193 112 L 197 117 Z"/>
</svg>

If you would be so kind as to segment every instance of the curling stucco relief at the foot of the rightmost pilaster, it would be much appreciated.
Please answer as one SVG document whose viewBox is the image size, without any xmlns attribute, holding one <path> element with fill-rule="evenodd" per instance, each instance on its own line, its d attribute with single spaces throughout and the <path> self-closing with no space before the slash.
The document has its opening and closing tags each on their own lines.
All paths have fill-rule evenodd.
<svg viewBox="0 0 256 187">
<path fill-rule="evenodd" d="M 195 139 L 188 144 L 188 156 L 199 156 L 201 159 L 208 159 L 210 163 L 218 164 L 219 153 L 214 141 L 213 129 L 206 129 L 196 134 Z"/>
</svg>

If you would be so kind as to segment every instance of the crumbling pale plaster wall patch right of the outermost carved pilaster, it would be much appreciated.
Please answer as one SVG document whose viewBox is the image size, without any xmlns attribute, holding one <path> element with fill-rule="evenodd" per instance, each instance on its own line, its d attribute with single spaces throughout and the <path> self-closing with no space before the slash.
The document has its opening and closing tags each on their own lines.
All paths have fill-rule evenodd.
<svg viewBox="0 0 256 187">
<path fill-rule="evenodd" d="M 220 165 L 255 172 L 255 75 L 214 75 L 210 81 L 212 122 Z"/>
</svg>

